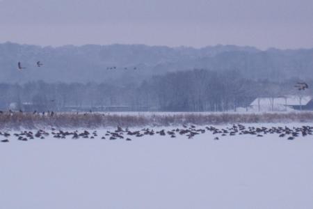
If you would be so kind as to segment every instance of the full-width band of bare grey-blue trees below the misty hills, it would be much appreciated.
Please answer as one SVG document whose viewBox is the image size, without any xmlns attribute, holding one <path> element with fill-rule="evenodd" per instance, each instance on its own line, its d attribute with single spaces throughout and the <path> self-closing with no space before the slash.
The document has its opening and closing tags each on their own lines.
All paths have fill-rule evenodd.
<svg viewBox="0 0 313 209">
<path fill-rule="evenodd" d="M 259 96 L 299 93 L 297 79 L 275 83 L 243 78 L 238 71 L 189 70 L 170 72 L 140 83 L 0 84 L 0 108 L 63 111 L 66 107 L 147 107 L 154 111 L 236 111 Z M 309 85 L 313 82 L 309 82 Z M 306 92 L 310 93 L 310 92 Z M 11 104 L 11 106 L 10 106 Z"/>
</svg>

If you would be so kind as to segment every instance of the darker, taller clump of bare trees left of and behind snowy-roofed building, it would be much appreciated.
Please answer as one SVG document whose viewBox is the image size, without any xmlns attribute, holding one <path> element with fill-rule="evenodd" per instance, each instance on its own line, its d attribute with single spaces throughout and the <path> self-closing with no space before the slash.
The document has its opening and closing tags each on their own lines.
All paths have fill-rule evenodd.
<svg viewBox="0 0 313 209">
<path fill-rule="evenodd" d="M 294 88 L 297 81 L 255 81 L 237 70 L 190 70 L 152 77 L 140 89 L 143 102 L 162 111 L 236 111 L 257 97 L 298 94 Z"/>
</svg>

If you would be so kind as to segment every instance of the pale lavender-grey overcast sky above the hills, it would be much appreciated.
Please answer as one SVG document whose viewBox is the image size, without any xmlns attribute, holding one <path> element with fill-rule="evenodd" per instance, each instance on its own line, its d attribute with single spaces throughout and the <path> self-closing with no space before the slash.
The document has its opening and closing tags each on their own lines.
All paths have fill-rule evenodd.
<svg viewBox="0 0 313 209">
<path fill-rule="evenodd" d="M 0 0 L 0 42 L 313 47 L 312 0 Z"/>
</svg>

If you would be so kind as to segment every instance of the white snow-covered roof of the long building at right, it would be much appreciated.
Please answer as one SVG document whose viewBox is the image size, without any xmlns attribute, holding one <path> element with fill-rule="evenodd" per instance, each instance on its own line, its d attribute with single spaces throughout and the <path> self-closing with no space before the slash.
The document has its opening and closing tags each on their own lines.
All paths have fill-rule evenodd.
<svg viewBox="0 0 313 209">
<path fill-rule="evenodd" d="M 256 98 L 250 105 L 268 105 L 271 104 L 272 100 L 273 98 Z M 298 95 L 288 95 L 286 97 L 274 98 L 273 102 L 274 105 L 296 106 L 300 105 L 300 101 L 301 105 L 306 105 L 310 100 L 312 100 L 311 96 L 302 96 L 300 100 Z"/>
</svg>

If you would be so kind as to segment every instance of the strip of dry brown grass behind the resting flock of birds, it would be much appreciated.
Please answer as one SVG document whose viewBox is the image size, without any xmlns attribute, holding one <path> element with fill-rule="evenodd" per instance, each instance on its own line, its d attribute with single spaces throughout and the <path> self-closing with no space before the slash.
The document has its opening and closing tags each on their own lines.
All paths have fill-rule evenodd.
<svg viewBox="0 0 313 209">
<path fill-rule="evenodd" d="M 58 113 L 55 116 L 38 114 L 4 113 L 0 114 L 0 129 L 38 128 L 38 127 L 138 127 L 168 126 L 192 123 L 195 125 L 223 123 L 313 123 L 313 112 L 265 113 L 265 114 L 70 114 Z"/>
</svg>

